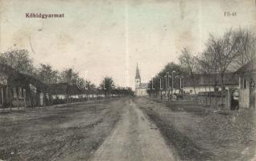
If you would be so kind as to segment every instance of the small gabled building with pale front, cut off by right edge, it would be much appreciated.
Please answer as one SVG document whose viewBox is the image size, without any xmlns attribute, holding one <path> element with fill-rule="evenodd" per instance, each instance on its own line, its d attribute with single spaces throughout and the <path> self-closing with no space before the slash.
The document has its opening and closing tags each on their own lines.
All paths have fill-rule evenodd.
<svg viewBox="0 0 256 161">
<path fill-rule="evenodd" d="M 239 75 L 239 107 L 255 108 L 256 59 L 237 70 Z"/>
</svg>

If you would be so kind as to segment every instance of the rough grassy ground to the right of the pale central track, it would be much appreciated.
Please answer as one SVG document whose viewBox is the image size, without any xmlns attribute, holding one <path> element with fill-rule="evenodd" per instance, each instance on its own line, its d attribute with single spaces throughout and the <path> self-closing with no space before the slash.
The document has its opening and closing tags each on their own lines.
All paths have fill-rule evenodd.
<svg viewBox="0 0 256 161">
<path fill-rule="evenodd" d="M 254 155 L 254 112 L 216 114 L 191 102 L 138 98 L 137 104 L 155 122 L 182 160 L 250 160 Z"/>
</svg>

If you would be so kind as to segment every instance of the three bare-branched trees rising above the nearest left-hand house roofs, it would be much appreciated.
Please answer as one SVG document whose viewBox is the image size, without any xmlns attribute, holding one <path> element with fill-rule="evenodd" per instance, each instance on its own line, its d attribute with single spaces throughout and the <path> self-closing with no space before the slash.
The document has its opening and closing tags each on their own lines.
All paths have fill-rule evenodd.
<svg viewBox="0 0 256 161">
<path fill-rule="evenodd" d="M 26 49 L 16 49 L 1 53 L 0 63 L 9 65 L 17 72 L 35 76 L 45 84 L 60 82 L 75 84 L 78 78 L 78 72 L 75 72 L 72 68 L 59 72 L 52 69 L 49 64 L 39 64 L 39 67 L 35 67 Z"/>
</svg>

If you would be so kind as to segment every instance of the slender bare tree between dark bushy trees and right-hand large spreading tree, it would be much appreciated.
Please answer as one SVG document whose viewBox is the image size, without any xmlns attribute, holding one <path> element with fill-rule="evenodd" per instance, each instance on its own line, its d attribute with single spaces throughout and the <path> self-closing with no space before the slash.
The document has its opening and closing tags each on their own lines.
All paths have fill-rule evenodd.
<svg viewBox="0 0 256 161">
<path fill-rule="evenodd" d="M 193 56 L 192 53 L 189 52 L 187 48 L 184 48 L 181 51 L 179 60 L 180 60 L 180 65 L 183 66 L 184 69 L 191 76 L 193 89 L 194 89 L 194 92 L 196 93 L 196 84 L 195 84 L 196 56 Z"/>
</svg>

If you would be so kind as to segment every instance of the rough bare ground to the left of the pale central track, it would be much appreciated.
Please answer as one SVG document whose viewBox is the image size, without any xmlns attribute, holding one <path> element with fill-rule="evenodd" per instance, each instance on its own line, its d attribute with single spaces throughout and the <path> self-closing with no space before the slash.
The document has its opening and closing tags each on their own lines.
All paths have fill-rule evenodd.
<svg viewBox="0 0 256 161">
<path fill-rule="evenodd" d="M 88 160 L 111 134 L 126 98 L 0 113 L 0 160 Z"/>
</svg>

